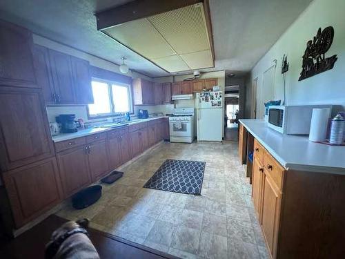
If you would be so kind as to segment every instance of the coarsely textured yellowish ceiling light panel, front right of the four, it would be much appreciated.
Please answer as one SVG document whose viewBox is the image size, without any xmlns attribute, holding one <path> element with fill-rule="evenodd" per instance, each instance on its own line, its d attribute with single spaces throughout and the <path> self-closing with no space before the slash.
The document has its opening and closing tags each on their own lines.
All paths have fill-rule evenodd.
<svg viewBox="0 0 345 259">
<path fill-rule="evenodd" d="M 201 3 L 148 17 L 148 21 L 178 54 L 210 48 Z"/>
</svg>

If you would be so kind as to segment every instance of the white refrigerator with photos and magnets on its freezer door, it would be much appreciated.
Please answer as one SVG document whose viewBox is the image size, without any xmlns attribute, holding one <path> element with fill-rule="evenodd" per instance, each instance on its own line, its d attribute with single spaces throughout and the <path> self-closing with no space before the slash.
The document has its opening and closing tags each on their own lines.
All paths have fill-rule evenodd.
<svg viewBox="0 0 345 259">
<path fill-rule="evenodd" d="M 221 91 L 196 94 L 197 140 L 221 141 L 223 122 L 223 99 Z"/>
</svg>

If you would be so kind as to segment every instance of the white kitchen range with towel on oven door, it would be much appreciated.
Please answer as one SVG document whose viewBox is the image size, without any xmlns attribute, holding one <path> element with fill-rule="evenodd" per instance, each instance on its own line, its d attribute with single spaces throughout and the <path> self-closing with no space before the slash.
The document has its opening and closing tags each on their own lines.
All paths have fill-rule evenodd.
<svg viewBox="0 0 345 259">
<path fill-rule="evenodd" d="M 170 142 L 192 143 L 195 138 L 194 108 L 175 108 L 169 117 Z"/>
</svg>

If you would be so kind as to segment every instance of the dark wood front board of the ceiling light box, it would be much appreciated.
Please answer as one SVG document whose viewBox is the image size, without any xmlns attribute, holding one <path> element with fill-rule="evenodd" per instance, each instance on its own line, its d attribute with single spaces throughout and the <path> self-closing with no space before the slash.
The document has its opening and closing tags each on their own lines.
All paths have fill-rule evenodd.
<svg viewBox="0 0 345 259">
<path fill-rule="evenodd" d="M 125 3 L 115 8 L 99 11 L 95 13 L 97 19 L 97 30 L 104 30 L 112 26 L 117 26 L 127 21 L 134 21 L 137 19 L 158 15 L 163 12 L 169 12 L 185 6 L 190 6 L 195 3 L 200 3 L 202 0 L 136 0 Z"/>
</svg>

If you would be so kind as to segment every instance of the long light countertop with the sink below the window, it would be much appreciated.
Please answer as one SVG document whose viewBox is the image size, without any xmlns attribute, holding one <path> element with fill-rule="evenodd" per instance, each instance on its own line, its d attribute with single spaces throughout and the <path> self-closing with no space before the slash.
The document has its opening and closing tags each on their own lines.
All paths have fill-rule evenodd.
<svg viewBox="0 0 345 259">
<path fill-rule="evenodd" d="M 160 116 L 160 117 L 150 117 L 148 119 L 135 119 L 135 122 L 132 122 L 128 125 L 120 126 L 117 128 L 125 128 L 125 127 L 131 126 L 131 125 L 139 124 L 142 122 L 149 122 L 150 120 L 161 119 L 161 118 L 168 118 L 168 117 L 167 116 Z M 116 129 L 116 128 L 85 128 L 85 129 L 77 131 L 75 133 L 61 133 L 59 135 L 52 136 L 52 141 L 57 143 L 57 142 L 61 142 L 64 140 L 72 140 L 72 139 L 75 139 L 77 137 L 85 137 L 85 136 L 92 135 L 95 133 L 112 131 L 114 129 Z"/>
</svg>

